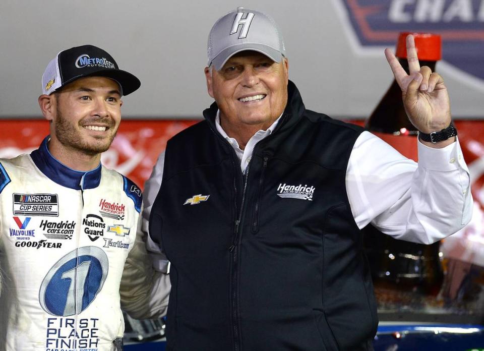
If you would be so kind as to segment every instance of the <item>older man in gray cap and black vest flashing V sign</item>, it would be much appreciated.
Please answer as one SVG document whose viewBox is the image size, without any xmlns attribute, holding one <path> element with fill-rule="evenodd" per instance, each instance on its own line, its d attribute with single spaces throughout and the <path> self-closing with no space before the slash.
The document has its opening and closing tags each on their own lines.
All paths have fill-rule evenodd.
<svg viewBox="0 0 484 351">
<path fill-rule="evenodd" d="M 412 36 L 407 51 L 409 75 L 385 54 L 420 131 L 418 164 L 307 110 L 267 15 L 238 8 L 215 23 L 205 68 L 215 103 L 168 141 L 145 187 L 145 229 L 149 218 L 171 264 L 168 350 L 373 348 L 360 229 L 432 243 L 472 207 L 442 78 L 420 68 Z"/>
</svg>

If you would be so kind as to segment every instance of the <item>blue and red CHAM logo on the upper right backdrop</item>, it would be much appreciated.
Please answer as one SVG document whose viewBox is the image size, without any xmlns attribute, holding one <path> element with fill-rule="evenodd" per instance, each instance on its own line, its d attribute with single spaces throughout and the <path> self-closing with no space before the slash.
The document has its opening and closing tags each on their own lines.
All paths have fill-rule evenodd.
<svg viewBox="0 0 484 351">
<path fill-rule="evenodd" d="M 363 48 L 394 47 L 399 32 L 442 37 L 442 60 L 484 84 L 484 1 L 333 0 Z M 466 77 L 463 77 L 464 79 Z M 470 78 L 470 77 L 469 77 Z"/>
</svg>

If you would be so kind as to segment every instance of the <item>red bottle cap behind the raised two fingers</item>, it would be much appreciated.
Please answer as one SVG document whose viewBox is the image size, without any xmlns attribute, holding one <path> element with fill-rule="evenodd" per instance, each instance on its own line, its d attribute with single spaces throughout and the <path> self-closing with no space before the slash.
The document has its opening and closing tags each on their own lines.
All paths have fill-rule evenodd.
<svg viewBox="0 0 484 351">
<path fill-rule="evenodd" d="M 395 56 L 399 59 L 407 58 L 407 47 L 405 38 L 413 34 L 415 48 L 417 49 L 418 60 L 439 61 L 442 57 L 442 40 L 439 34 L 402 32 L 398 36 L 397 50 Z"/>
</svg>

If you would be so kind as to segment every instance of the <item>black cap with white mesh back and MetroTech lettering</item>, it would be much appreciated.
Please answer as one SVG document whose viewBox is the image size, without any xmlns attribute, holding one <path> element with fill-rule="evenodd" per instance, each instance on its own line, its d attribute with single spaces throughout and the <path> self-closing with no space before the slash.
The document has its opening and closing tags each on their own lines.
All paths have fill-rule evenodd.
<svg viewBox="0 0 484 351">
<path fill-rule="evenodd" d="M 120 70 L 106 51 L 93 45 L 82 45 L 59 52 L 49 62 L 42 75 L 42 94 L 52 94 L 76 79 L 93 76 L 115 80 L 123 95 L 131 94 L 141 86 L 140 80 Z"/>
</svg>

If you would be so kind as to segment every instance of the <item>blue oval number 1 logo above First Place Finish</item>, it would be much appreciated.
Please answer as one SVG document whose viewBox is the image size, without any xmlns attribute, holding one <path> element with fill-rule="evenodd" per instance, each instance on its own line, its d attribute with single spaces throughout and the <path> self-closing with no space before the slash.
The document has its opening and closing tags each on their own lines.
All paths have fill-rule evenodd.
<svg viewBox="0 0 484 351">
<path fill-rule="evenodd" d="M 81 313 L 101 291 L 108 267 L 107 255 L 98 247 L 71 251 L 45 275 L 39 291 L 40 306 L 54 316 Z"/>
</svg>

